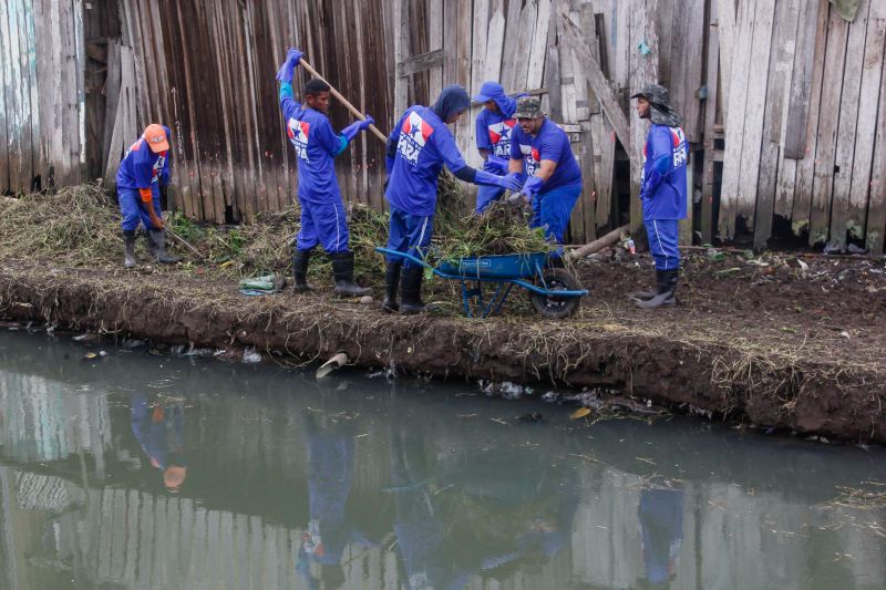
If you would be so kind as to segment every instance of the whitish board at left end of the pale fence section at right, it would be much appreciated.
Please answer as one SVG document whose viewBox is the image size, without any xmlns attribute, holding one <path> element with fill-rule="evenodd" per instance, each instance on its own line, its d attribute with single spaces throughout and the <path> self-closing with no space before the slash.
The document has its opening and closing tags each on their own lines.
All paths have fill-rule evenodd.
<svg viewBox="0 0 886 590">
<path fill-rule="evenodd" d="M 761 0 L 765 1 L 765 0 Z M 749 0 L 740 7 L 736 17 L 738 37 L 751 39 L 755 14 L 755 1 Z M 748 81 L 751 75 L 751 44 L 739 43 L 731 60 L 729 83 L 729 106 L 727 108 L 725 154 L 723 159 L 723 179 L 720 192 L 719 234 L 722 239 L 731 240 L 735 236 L 735 211 L 738 209 L 741 167 L 744 158 L 744 120 L 748 100 Z M 720 60 L 723 64 L 723 60 Z"/>
</svg>

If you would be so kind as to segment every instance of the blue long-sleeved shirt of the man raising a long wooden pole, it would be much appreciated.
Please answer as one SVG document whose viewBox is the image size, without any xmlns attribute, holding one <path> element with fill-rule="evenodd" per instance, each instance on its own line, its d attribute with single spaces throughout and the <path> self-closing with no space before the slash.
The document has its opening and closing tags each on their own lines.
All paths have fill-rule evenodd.
<svg viewBox="0 0 886 590">
<path fill-rule="evenodd" d="M 280 110 L 286 118 L 286 134 L 296 148 L 298 198 L 308 203 L 328 203 L 341 198 L 334 158 L 348 146 L 329 117 L 302 106 L 292 97 L 289 84 L 280 87 Z"/>
</svg>

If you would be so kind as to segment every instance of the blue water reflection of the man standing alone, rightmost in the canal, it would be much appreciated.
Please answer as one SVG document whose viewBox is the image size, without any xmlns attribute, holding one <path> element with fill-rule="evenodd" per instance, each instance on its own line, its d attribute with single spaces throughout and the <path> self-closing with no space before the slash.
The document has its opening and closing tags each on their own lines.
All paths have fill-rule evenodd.
<svg viewBox="0 0 886 590">
<path fill-rule="evenodd" d="M 643 489 L 637 513 L 646 586 L 667 587 L 677 575 L 677 558 L 683 540 L 683 490 Z"/>
</svg>

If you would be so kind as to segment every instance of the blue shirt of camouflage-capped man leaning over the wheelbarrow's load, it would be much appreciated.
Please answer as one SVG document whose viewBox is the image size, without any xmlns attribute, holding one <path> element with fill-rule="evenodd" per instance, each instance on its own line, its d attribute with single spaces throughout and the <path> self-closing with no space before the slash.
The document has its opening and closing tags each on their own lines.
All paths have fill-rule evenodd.
<svg viewBox="0 0 886 590">
<path fill-rule="evenodd" d="M 548 118 L 545 118 L 535 137 L 524 133 L 519 125 L 514 127 L 511 136 L 511 158 L 523 159 L 526 163 L 526 174 L 529 176 L 535 176 L 543 159 L 557 164 L 554 174 L 542 185 L 539 195 L 581 182 L 581 168 L 573 155 L 569 136 Z"/>
</svg>

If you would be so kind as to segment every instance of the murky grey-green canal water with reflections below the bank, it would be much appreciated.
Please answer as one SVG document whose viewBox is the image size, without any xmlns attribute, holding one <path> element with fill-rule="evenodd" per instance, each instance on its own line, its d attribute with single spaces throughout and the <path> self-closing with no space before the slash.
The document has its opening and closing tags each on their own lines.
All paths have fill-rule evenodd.
<svg viewBox="0 0 886 590">
<path fill-rule="evenodd" d="M 883 451 L 571 410 L 4 331 L 0 588 L 886 586 Z"/>
</svg>

